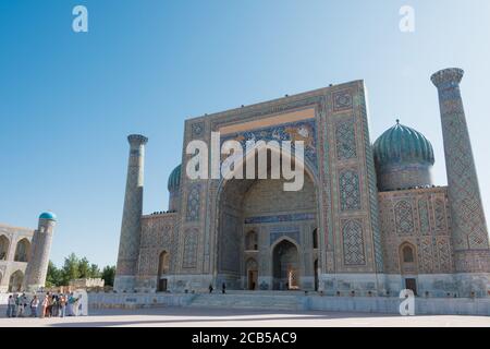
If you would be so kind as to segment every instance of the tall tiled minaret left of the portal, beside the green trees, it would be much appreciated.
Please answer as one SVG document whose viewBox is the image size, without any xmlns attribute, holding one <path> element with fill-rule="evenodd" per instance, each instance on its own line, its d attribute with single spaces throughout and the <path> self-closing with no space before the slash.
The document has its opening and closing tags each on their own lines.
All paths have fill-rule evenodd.
<svg viewBox="0 0 490 349">
<path fill-rule="evenodd" d="M 139 134 L 131 134 L 127 141 L 130 142 L 130 160 L 114 279 L 114 290 L 118 292 L 133 292 L 135 289 L 142 229 L 145 144 L 148 139 Z"/>
</svg>

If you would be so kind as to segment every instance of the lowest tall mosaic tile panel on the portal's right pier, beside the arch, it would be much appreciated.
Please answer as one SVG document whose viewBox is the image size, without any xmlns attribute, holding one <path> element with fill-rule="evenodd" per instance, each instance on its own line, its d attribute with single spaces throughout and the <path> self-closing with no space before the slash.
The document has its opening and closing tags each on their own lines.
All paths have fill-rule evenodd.
<svg viewBox="0 0 490 349">
<path fill-rule="evenodd" d="M 342 240 L 345 265 L 366 264 L 363 234 L 363 222 L 360 219 L 350 219 L 343 222 Z"/>
</svg>

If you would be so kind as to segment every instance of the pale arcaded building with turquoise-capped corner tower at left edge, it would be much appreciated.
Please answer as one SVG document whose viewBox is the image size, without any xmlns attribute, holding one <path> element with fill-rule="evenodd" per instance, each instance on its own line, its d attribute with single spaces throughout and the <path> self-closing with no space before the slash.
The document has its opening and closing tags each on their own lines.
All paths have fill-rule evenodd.
<svg viewBox="0 0 490 349">
<path fill-rule="evenodd" d="M 45 286 L 56 222 L 56 215 L 47 212 L 35 230 L 0 225 L 0 292 Z"/>
</svg>

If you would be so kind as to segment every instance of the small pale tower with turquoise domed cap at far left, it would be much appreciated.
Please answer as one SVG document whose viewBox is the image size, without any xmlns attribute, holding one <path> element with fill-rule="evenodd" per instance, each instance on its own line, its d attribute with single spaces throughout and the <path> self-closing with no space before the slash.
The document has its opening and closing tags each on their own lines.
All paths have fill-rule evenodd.
<svg viewBox="0 0 490 349">
<path fill-rule="evenodd" d="M 25 269 L 25 290 L 37 291 L 45 286 L 56 225 L 57 216 L 53 213 L 45 212 L 39 216 L 39 224 L 33 234 L 29 260 Z"/>
</svg>

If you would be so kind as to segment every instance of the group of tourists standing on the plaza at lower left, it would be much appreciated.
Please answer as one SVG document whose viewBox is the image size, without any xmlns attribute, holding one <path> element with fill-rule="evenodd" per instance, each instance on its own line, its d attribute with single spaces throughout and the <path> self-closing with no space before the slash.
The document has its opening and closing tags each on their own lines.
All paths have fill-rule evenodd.
<svg viewBox="0 0 490 349">
<path fill-rule="evenodd" d="M 9 296 L 7 304 L 7 317 L 64 317 L 77 316 L 79 298 L 73 293 L 33 294 L 14 293 Z M 27 315 L 27 310 L 29 314 Z"/>
</svg>

